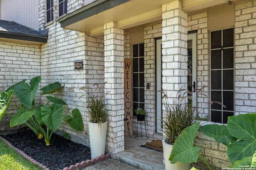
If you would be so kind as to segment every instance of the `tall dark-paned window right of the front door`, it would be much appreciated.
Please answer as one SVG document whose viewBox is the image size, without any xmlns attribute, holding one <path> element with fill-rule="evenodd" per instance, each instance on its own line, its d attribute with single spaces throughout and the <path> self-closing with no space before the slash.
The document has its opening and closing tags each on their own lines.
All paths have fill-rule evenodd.
<svg viewBox="0 0 256 170">
<path fill-rule="evenodd" d="M 234 115 L 234 28 L 211 32 L 211 121 L 227 123 Z"/>
</svg>

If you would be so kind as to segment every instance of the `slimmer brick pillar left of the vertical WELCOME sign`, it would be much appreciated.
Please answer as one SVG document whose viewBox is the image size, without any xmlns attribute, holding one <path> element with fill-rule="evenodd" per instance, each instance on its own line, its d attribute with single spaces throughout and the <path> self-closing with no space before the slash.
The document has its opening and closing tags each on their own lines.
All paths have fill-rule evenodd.
<svg viewBox="0 0 256 170">
<path fill-rule="evenodd" d="M 114 21 L 104 25 L 105 93 L 108 102 L 106 150 L 124 150 L 124 30 Z"/>
</svg>

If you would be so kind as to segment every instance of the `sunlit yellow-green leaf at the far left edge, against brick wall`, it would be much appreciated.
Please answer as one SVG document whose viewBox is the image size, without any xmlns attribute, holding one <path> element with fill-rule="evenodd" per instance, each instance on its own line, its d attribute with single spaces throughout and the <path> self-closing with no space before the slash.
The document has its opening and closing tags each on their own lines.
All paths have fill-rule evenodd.
<svg viewBox="0 0 256 170">
<path fill-rule="evenodd" d="M 0 121 L 4 117 L 6 110 L 8 109 L 14 90 L 8 92 L 0 92 Z"/>
</svg>

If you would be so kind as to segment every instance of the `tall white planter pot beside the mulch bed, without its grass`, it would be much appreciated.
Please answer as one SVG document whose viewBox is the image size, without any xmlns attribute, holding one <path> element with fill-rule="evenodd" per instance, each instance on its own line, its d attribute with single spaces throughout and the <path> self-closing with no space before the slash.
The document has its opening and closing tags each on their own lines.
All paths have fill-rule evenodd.
<svg viewBox="0 0 256 170">
<path fill-rule="evenodd" d="M 105 154 L 106 137 L 107 137 L 107 122 L 92 123 L 88 122 L 91 158 L 96 158 Z"/>
</svg>

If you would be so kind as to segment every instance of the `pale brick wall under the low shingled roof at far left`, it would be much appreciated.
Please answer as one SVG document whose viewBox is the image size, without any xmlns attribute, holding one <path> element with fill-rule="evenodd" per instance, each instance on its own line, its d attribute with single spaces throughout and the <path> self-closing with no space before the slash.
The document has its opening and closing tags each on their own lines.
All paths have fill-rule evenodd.
<svg viewBox="0 0 256 170">
<path fill-rule="evenodd" d="M 40 72 L 40 54 L 39 45 L 21 45 L 0 41 L 0 92 L 6 91 L 7 88 L 21 80 L 30 79 L 39 76 Z M 39 94 L 35 98 L 36 103 L 40 101 Z M 13 104 L 20 106 L 18 98 L 15 96 L 11 101 Z M 7 113 L 16 113 L 14 106 L 8 108 Z M 0 132 L 10 130 L 9 115 L 4 115 L 0 121 Z M 12 128 L 18 129 L 22 126 Z"/>
</svg>

